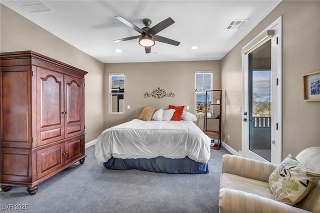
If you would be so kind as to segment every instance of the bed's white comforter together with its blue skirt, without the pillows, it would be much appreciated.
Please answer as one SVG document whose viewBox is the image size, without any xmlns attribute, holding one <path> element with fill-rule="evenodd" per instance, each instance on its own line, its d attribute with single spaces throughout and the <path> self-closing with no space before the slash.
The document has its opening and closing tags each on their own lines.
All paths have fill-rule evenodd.
<svg viewBox="0 0 320 213">
<path fill-rule="evenodd" d="M 210 138 L 192 120 L 132 119 L 99 135 L 95 157 L 110 169 L 208 173 Z"/>
</svg>

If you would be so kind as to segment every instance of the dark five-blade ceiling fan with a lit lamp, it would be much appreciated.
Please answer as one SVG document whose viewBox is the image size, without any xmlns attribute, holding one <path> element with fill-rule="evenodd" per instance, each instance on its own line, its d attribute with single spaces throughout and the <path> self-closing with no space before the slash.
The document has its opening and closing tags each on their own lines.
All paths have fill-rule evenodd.
<svg viewBox="0 0 320 213">
<path fill-rule="evenodd" d="M 180 44 L 180 42 L 178 42 L 178 41 L 172 40 L 170 38 L 162 37 L 160 35 L 156 35 L 156 33 L 158 33 L 159 31 L 165 29 L 166 27 L 168 27 L 169 25 L 174 23 L 174 20 L 172 20 L 172 18 L 170 18 L 170 17 L 166 18 L 165 20 L 162 20 L 161 22 L 152 26 L 151 28 L 149 27 L 151 24 L 151 20 L 148 18 L 144 18 L 142 20 L 144 27 L 141 29 L 138 26 L 134 25 L 133 23 L 131 23 L 130 21 L 126 20 L 125 18 L 123 18 L 119 15 L 116 15 L 114 17 L 116 19 L 118 19 L 119 21 L 121 21 L 122 23 L 126 24 L 127 26 L 131 27 L 132 29 L 134 29 L 135 31 L 140 33 L 140 35 L 113 40 L 114 42 L 120 42 L 120 41 L 132 40 L 135 38 L 139 38 L 139 44 L 141 46 L 144 46 L 145 53 L 151 52 L 151 46 L 154 45 L 154 40 L 160 41 L 163 43 L 176 45 L 176 46 Z"/>
</svg>

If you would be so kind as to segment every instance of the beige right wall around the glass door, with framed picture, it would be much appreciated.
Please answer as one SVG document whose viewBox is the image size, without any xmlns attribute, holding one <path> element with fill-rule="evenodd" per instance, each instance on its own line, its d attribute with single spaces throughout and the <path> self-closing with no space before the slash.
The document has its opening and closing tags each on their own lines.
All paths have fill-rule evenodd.
<svg viewBox="0 0 320 213">
<path fill-rule="evenodd" d="M 302 100 L 302 74 L 320 70 L 320 1 L 282 1 L 221 59 L 225 116 L 222 139 L 241 150 L 241 48 L 282 15 L 282 158 L 320 145 L 320 102 Z"/>
</svg>

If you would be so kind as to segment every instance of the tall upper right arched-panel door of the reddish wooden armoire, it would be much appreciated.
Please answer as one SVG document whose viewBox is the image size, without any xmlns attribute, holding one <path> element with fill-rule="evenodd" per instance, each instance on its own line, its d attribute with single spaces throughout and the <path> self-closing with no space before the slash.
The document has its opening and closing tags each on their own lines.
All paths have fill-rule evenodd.
<svg viewBox="0 0 320 213">
<path fill-rule="evenodd" d="M 64 75 L 64 137 L 84 132 L 84 80 Z"/>
</svg>

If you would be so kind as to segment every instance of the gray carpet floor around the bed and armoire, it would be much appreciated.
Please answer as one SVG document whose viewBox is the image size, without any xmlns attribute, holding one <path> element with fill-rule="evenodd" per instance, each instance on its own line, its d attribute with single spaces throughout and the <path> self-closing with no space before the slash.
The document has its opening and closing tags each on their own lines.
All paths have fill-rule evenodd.
<svg viewBox="0 0 320 213">
<path fill-rule="evenodd" d="M 211 150 L 207 174 L 168 174 L 111 170 L 97 164 L 94 146 L 85 149 L 84 164 L 74 163 L 39 184 L 0 192 L 1 212 L 218 212 L 221 157 Z M 15 207 L 27 206 L 27 210 Z M 8 209 L 11 208 L 12 209 Z"/>
</svg>

